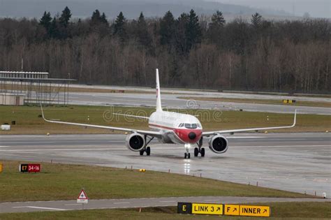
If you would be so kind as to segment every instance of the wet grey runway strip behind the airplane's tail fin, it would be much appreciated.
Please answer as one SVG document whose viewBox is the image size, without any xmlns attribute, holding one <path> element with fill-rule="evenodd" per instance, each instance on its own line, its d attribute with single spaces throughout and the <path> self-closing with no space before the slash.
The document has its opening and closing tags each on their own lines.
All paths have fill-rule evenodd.
<svg viewBox="0 0 331 220">
<path fill-rule="evenodd" d="M 255 103 L 229 103 L 215 101 L 187 101 L 179 99 L 178 94 L 161 94 L 163 108 L 179 108 L 179 109 L 217 109 L 217 110 L 244 110 L 249 112 L 277 112 L 277 113 L 293 113 L 295 109 L 300 114 L 318 114 L 331 115 L 330 108 L 306 107 L 296 105 L 267 105 Z M 223 94 L 204 94 L 200 97 L 227 97 Z M 231 98 L 239 98 L 242 94 L 237 94 Z M 259 98 L 258 95 L 251 95 L 253 98 Z M 261 95 L 260 95 L 261 96 Z M 281 97 L 279 97 L 281 98 Z M 325 98 L 328 100 L 331 98 Z M 281 99 L 279 99 L 281 100 Z M 155 107 L 156 98 L 154 94 L 106 94 L 106 93 L 75 93 L 72 92 L 69 96 L 69 103 L 74 105 L 121 105 L 121 106 L 142 106 Z"/>
</svg>

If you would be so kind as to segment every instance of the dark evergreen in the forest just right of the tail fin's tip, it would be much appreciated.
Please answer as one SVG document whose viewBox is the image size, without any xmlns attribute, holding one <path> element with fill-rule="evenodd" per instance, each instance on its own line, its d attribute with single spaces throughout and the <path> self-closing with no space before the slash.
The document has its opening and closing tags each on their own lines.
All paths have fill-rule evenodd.
<svg viewBox="0 0 331 220">
<path fill-rule="evenodd" d="M 161 45 L 170 45 L 175 34 L 175 19 L 170 10 L 163 16 L 160 22 Z"/>
</svg>

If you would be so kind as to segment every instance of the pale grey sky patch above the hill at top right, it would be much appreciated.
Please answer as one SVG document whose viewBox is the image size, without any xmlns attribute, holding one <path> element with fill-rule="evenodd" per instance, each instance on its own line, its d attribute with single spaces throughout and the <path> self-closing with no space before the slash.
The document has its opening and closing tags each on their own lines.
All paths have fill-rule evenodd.
<svg viewBox="0 0 331 220">
<path fill-rule="evenodd" d="M 271 8 L 274 10 L 285 10 L 294 12 L 296 16 L 302 16 L 305 12 L 311 17 L 331 18 L 331 0 L 205 0 L 219 1 L 221 3 L 235 3 L 254 8 Z"/>
</svg>

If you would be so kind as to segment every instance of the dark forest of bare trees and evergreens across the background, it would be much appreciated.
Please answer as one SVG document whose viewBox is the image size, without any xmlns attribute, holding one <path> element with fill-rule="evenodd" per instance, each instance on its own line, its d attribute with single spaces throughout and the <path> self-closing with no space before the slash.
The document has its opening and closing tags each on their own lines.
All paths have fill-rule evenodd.
<svg viewBox="0 0 331 220">
<path fill-rule="evenodd" d="M 108 20 L 70 8 L 38 19 L 0 18 L 0 70 L 46 71 L 88 85 L 330 93 L 331 21 L 224 20 L 194 10 Z"/>
</svg>

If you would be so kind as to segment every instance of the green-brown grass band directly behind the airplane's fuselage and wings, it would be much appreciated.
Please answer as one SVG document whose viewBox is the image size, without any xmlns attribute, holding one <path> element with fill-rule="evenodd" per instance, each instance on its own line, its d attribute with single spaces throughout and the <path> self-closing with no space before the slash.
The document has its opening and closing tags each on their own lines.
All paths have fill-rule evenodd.
<svg viewBox="0 0 331 220">
<path fill-rule="evenodd" d="M 148 129 L 147 120 L 126 120 L 122 116 L 111 118 L 113 112 L 128 115 L 149 116 L 154 108 L 129 108 L 129 107 L 101 107 L 80 106 L 69 107 L 49 106 L 44 107 L 47 119 L 61 119 L 67 122 L 100 124 L 120 126 L 132 129 Z M 198 119 L 203 124 L 205 131 L 240 129 L 260 126 L 284 126 L 292 124 L 293 114 L 276 114 L 267 112 L 239 112 L 219 110 L 180 110 L 191 115 L 199 115 Z M 68 126 L 44 122 L 39 106 L 0 106 L 0 124 L 16 121 L 11 131 L 0 131 L 0 134 L 45 134 L 45 133 L 113 133 L 107 129 L 91 129 L 82 126 Z M 89 116 L 89 120 L 87 120 Z M 108 120 L 106 120 L 106 119 Z M 267 118 L 269 120 L 267 120 Z M 275 130 L 277 132 L 307 132 L 330 131 L 330 115 L 297 115 L 297 126 L 293 129 Z"/>
</svg>

